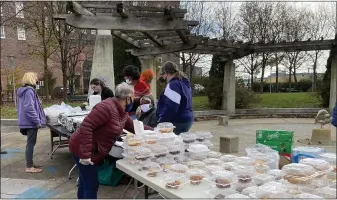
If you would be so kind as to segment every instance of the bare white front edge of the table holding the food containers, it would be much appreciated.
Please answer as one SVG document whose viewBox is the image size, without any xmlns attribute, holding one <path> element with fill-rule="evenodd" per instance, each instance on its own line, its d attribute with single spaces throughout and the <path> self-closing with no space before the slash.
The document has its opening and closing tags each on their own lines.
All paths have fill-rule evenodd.
<svg viewBox="0 0 337 200">
<path fill-rule="evenodd" d="M 131 165 L 124 159 L 117 161 L 117 168 L 170 199 L 209 198 L 204 192 L 210 189 L 210 185 L 207 182 L 202 182 L 200 185 L 191 185 L 188 182 L 179 189 L 167 189 L 165 183 L 161 182 L 166 172 L 160 172 L 156 177 L 148 177 L 145 171 L 138 171 L 136 165 Z"/>
</svg>

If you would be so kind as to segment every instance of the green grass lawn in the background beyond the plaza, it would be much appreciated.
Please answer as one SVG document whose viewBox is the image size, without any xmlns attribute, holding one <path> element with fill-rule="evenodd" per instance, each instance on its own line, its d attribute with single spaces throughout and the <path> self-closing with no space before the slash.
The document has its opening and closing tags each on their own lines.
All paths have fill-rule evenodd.
<svg viewBox="0 0 337 200">
<path fill-rule="evenodd" d="M 55 103 L 45 103 L 43 107 L 49 107 Z M 76 107 L 81 102 L 69 103 Z M 320 106 L 319 99 L 311 93 L 265 93 L 261 95 L 261 102 L 253 108 L 316 108 Z M 208 98 L 206 96 L 193 97 L 193 108 L 196 111 L 209 110 Z M 2 119 L 15 119 L 16 108 L 14 105 L 1 106 Z"/>
</svg>

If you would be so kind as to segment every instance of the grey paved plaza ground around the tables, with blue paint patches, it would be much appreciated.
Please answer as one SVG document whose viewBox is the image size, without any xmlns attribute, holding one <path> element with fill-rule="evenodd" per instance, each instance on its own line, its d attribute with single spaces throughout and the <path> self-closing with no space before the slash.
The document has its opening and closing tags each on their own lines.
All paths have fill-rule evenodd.
<svg viewBox="0 0 337 200">
<path fill-rule="evenodd" d="M 297 139 L 310 138 L 315 125 L 314 119 L 233 119 L 228 127 L 218 126 L 217 121 L 196 122 L 192 131 L 211 131 L 213 149 L 219 150 L 219 138 L 231 134 L 239 137 L 240 153 L 244 154 L 246 147 L 255 144 L 255 131 L 258 129 L 278 129 L 295 131 Z M 336 129 L 332 130 L 332 138 L 336 139 Z M 74 170 L 72 179 L 68 179 L 68 171 L 74 165 L 68 148 L 59 149 L 50 159 L 49 129 L 38 133 L 38 141 L 34 152 L 34 162 L 43 165 L 44 172 L 40 174 L 27 174 L 25 170 L 24 149 L 26 137 L 22 136 L 17 127 L 1 127 L 1 146 L 8 154 L 1 155 L 1 198 L 76 198 L 77 170 Z M 296 142 L 295 146 L 298 146 Z M 336 147 L 327 147 L 335 152 Z M 101 186 L 99 198 L 119 198 L 126 185 L 117 187 Z M 132 198 L 133 190 L 129 190 L 125 198 Z M 142 194 L 138 198 L 144 198 Z"/>
</svg>

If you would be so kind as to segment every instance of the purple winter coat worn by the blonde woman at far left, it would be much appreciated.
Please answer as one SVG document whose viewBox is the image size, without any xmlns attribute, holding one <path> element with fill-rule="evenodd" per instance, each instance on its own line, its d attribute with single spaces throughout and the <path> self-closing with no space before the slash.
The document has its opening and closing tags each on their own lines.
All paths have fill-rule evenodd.
<svg viewBox="0 0 337 200">
<path fill-rule="evenodd" d="M 31 86 L 20 87 L 18 96 L 19 128 L 36 128 L 39 124 L 46 126 L 46 115 L 42 109 L 36 90 Z"/>
</svg>

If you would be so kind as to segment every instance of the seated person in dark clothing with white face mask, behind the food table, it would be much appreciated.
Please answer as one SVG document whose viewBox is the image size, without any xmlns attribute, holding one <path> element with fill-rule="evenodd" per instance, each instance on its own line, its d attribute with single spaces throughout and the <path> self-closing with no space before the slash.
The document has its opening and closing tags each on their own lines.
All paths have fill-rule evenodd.
<svg viewBox="0 0 337 200">
<path fill-rule="evenodd" d="M 138 120 L 143 124 L 155 128 L 158 124 L 156 116 L 157 109 L 155 107 L 154 99 L 151 95 L 143 96 L 140 99 L 140 114 Z"/>
</svg>

